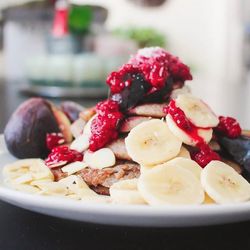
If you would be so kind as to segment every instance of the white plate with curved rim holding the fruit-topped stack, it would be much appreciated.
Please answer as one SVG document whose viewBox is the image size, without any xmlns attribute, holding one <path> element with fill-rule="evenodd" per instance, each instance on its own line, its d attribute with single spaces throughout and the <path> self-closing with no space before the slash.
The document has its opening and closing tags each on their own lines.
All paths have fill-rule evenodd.
<svg viewBox="0 0 250 250">
<path fill-rule="evenodd" d="M 0 136 L 0 162 L 14 161 Z M 2 183 L 0 176 L 0 182 Z M 162 206 L 86 203 L 26 194 L 0 184 L 0 199 L 31 211 L 77 221 L 128 226 L 182 227 L 250 220 L 250 202 L 235 205 Z"/>
</svg>

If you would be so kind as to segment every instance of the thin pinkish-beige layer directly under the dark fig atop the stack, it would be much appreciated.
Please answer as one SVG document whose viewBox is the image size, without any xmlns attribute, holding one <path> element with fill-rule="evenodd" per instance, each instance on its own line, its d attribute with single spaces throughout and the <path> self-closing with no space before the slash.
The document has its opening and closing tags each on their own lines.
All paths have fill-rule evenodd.
<svg viewBox="0 0 250 250">
<path fill-rule="evenodd" d="M 128 111 L 129 115 L 147 116 L 154 118 L 165 117 L 166 114 L 163 112 L 163 108 L 166 103 L 149 103 L 138 105 Z"/>
</svg>

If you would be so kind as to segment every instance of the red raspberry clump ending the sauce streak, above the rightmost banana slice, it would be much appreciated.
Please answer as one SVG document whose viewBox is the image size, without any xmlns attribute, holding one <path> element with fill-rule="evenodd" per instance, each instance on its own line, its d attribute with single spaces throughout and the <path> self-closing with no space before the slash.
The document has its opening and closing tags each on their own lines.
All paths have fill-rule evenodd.
<svg viewBox="0 0 250 250">
<path fill-rule="evenodd" d="M 210 161 L 220 161 L 220 156 L 207 144 L 198 145 L 199 151 L 191 153 L 192 160 L 204 168 Z"/>
</svg>

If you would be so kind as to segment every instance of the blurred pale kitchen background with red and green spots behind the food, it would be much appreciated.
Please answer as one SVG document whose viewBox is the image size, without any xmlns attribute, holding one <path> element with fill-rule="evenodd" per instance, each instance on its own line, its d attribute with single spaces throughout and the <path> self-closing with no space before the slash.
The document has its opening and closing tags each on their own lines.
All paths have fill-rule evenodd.
<svg viewBox="0 0 250 250">
<path fill-rule="evenodd" d="M 179 56 L 194 94 L 250 128 L 249 0 L 0 0 L 0 131 L 28 96 L 105 98 L 144 46 Z"/>
</svg>

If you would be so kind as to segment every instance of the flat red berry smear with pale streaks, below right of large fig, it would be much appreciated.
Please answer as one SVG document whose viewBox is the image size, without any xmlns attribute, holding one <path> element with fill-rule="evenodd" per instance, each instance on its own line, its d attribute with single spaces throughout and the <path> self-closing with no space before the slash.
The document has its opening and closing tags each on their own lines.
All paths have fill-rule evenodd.
<svg viewBox="0 0 250 250">
<path fill-rule="evenodd" d="M 52 149 L 45 163 L 49 168 L 54 168 L 82 160 L 83 155 L 81 153 L 70 149 L 68 146 L 59 146 Z"/>
</svg>

